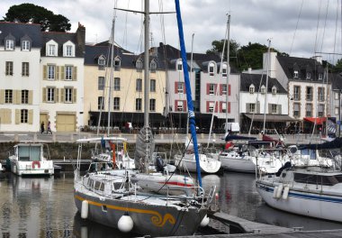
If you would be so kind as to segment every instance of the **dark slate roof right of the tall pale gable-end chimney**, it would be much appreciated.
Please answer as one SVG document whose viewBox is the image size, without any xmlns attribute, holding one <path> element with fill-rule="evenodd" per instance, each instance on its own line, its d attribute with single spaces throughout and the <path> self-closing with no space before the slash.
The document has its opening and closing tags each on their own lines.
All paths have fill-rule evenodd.
<svg viewBox="0 0 342 238">
<path fill-rule="evenodd" d="M 311 80 L 318 81 L 319 73 L 324 73 L 323 66 L 316 59 L 306 59 L 306 58 L 297 58 L 297 57 L 286 57 L 286 56 L 277 56 L 277 59 L 282 66 L 286 77 L 290 80 Z M 293 78 L 294 70 L 298 71 L 298 78 Z M 311 71 L 311 79 L 306 78 L 306 72 Z"/>
</svg>

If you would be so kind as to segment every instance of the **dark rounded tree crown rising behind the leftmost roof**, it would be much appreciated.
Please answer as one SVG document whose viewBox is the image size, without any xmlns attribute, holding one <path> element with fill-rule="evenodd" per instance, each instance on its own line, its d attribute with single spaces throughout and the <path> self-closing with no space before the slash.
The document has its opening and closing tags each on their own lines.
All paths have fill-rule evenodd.
<svg viewBox="0 0 342 238">
<path fill-rule="evenodd" d="M 42 32 L 67 32 L 71 29 L 69 20 L 61 14 L 53 14 L 48 9 L 32 4 L 13 5 L 8 9 L 5 22 L 37 23 Z"/>
</svg>

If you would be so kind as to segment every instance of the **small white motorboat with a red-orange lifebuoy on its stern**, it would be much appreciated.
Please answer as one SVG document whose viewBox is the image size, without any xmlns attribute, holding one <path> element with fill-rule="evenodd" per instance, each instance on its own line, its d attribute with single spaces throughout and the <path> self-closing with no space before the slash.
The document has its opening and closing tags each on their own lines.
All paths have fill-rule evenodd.
<svg viewBox="0 0 342 238">
<path fill-rule="evenodd" d="M 49 158 L 49 147 L 43 143 L 18 143 L 6 160 L 6 168 L 19 176 L 54 174 L 53 161 Z"/>
</svg>

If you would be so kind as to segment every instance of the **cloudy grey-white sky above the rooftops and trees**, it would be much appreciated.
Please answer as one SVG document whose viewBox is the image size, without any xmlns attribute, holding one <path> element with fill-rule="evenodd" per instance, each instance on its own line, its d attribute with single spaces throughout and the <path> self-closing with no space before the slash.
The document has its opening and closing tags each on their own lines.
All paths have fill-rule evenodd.
<svg viewBox="0 0 342 238">
<path fill-rule="evenodd" d="M 293 57 L 321 55 L 332 63 L 342 58 L 339 0 L 179 1 L 188 52 L 204 53 L 211 49 L 212 41 L 225 39 L 230 14 L 229 38 L 240 46 L 248 42 L 268 45 L 270 39 L 272 48 Z M 23 3 L 64 15 L 72 24 L 70 32 L 76 32 L 78 23 L 83 24 L 88 43 L 109 40 L 115 15 L 114 40 L 126 50 L 142 51 L 142 15 L 113 8 L 142 11 L 143 0 L 1 0 L 0 18 L 10 6 Z M 150 0 L 150 12 L 175 12 L 175 2 Z M 164 42 L 179 49 L 175 14 L 152 14 L 150 21 L 151 46 Z"/>
</svg>

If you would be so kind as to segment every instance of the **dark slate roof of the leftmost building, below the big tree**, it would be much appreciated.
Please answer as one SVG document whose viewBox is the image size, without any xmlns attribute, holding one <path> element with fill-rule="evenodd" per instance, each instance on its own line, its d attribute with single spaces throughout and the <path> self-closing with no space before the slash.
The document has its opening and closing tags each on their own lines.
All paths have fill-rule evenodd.
<svg viewBox="0 0 342 238">
<path fill-rule="evenodd" d="M 40 24 L 0 22 L 0 46 L 4 46 L 4 38 L 12 34 L 15 47 L 21 47 L 21 39 L 27 35 L 31 39 L 32 48 L 41 48 Z"/>
</svg>

